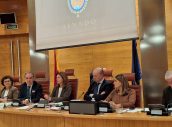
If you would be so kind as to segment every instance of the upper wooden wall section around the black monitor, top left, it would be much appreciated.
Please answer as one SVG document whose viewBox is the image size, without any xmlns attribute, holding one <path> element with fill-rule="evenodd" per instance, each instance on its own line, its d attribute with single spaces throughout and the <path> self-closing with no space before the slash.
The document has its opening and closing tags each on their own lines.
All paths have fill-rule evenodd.
<svg viewBox="0 0 172 127">
<path fill-rule="evenodd" d="M 6 30 L 5 25 L 0 25 L 0 35 L 28 33 L 27 0 L 0 0 L 0 13 L 16 13 L 19 29 Z"/>
</svg>

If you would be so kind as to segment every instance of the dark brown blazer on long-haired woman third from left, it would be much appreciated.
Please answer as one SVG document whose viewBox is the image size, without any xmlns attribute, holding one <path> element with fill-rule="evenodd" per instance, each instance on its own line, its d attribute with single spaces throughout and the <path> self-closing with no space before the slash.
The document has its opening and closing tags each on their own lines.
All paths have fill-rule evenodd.
<svg viewBox="0 0 172 127">
<path fill-rule="evenodd" d="M 60 97 L 58 97 L 58 92 L 59 92 L 59 85 L 55 86 L 52 94 L 51 94 L 51 100 L 53 102 L 60 102 L 60 101 L 68 101 L 70 100 L 71 93 L 72 93 L 72 86 L 71 85 L 65 85 L 62 88 L 62 92 Z"/>
</svg>

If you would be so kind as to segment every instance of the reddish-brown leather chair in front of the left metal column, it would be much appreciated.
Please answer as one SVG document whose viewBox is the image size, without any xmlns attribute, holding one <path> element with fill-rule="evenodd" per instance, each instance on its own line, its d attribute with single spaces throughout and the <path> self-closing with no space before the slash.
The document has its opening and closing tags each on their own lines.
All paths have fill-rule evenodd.
<svg viewBox="0 0 172 127">
<path fill-rule="evenodd" d="M 50 83 L 49 80 L 46 79 L 45 72 L 40 71 L 35 73 L 35 81 L 37 81 L 42 86 L 42 93 L 49 94 Z"/>
</svg>

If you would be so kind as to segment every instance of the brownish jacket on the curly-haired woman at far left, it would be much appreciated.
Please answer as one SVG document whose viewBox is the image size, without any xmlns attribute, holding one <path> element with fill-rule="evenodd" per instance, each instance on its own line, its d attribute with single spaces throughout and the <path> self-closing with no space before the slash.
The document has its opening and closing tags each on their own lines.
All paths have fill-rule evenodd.
<svg viewBox="0 0 172 127">
<path fill-rule="evenodd" d="M 4 95 L 4 92 L 5 92 L 5 87 L 1 90 L 1 98 L 3 98 L 3 95 Z M 16 87 L 12 86 L 10 89 L 9 89 L 9 92 L 8 92 L 8 95 L 7 95 L 7 100 L 12 100 L 12 99 L 18 99 L 18 94 L 19 94 L 19 91 Z"/>
</svg>

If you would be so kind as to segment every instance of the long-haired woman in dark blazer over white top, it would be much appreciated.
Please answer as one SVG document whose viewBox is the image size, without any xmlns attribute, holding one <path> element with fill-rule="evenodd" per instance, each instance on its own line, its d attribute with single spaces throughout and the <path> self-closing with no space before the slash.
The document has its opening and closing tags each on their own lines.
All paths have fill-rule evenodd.
<svg viewBox="0 0 172 127">
<path fill-rule="evenodd" d="M 54 87 L 51 96 L 44 95 L 44 98 L 51 102 L 61 102 L 70 100 L 72 87 L 68 84 L 68 78 L 64 72 L 56 75 L 57 85 Z"/>
</svg>

